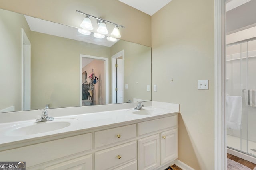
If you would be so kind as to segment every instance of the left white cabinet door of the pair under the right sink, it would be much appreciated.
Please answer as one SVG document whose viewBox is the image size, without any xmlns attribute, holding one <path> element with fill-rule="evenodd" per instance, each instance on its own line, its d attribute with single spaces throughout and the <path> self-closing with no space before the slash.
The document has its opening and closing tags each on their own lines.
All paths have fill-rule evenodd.
<svg viewBox="0 0 256 170">
<path fill-rule="evenodd" d="M 138 140 L 138 170 L 151 170 L 160 165 L 159 134 Z"/>
</svg>

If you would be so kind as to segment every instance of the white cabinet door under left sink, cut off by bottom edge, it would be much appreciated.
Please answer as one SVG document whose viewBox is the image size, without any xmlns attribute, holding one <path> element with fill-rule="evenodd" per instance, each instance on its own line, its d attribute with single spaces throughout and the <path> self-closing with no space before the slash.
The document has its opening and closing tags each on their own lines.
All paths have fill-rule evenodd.
<svg viewBox="0 0 256 170">
<path fill-rule="evenodd" d="M 92 155 L 81 156 L 44 168 L 44 170 L 92 170 Z"/>
</svg>

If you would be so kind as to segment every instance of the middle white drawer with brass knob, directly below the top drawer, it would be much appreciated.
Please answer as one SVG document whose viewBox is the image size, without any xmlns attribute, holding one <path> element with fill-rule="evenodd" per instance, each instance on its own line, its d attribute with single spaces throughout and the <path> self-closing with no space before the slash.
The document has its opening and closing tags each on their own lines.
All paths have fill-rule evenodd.
<svg viewBox="0 0 256 170">
<path fill-rule="evenodd" d="M 95 152 L 95 170 L 106 170 L 108 168 L 124 164 L 137 158 L 136 141 Z"/>
</svg>

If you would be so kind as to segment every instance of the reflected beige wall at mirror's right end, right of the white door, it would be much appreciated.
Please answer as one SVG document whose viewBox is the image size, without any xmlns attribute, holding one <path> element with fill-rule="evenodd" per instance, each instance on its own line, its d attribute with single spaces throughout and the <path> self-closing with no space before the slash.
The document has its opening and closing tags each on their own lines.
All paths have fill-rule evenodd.
<svg viewBox="0 0 256 170">
<path fill-rule="evenodd" d="M 133 98 L 151 100 L 151 48 L 126 41 L 118 41 L 111 47 L 111 56 L 124 50 L 124 102 Z"/>
</svg>

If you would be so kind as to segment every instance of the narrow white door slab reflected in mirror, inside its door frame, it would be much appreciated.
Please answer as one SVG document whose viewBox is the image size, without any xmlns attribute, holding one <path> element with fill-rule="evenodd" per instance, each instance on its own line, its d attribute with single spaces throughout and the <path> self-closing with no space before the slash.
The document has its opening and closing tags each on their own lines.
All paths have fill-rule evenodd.
<svg viewBox="0 0 256 170">
<path fill-rule="evenodd" d="M 124 84 L 123 84 L 123 60 L 122 59 L 116 59 L 116 99 L 117 103 L 124 102 L 123 98 L 123 91 L 124 91 Z"/>
</svg>

